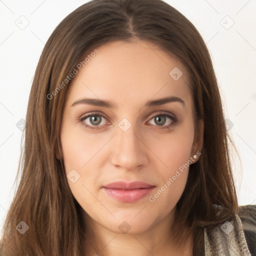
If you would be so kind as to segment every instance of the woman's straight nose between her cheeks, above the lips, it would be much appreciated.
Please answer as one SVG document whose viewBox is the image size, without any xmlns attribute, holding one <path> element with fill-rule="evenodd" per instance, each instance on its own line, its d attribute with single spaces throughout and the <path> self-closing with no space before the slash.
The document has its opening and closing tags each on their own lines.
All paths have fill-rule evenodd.
<svg viewBox="0 0 256 256">
<path fill-rule="evenodd" d="M 125 170 L 134 170 L 145 166 L 148 163 L 146 141 L 142 134 L 138 133 L 135 125 L 123 131 L 117 127 L 117 134 L 114 137 L 111 163 L 114 166 Z"/>
</svg>

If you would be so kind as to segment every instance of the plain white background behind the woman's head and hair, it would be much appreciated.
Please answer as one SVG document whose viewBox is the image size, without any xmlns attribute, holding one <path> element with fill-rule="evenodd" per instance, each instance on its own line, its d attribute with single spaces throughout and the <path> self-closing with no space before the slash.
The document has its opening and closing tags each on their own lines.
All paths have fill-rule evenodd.
<svg viewBox="0 0 256 256">
<path fill-rule="evenodd" d="M 40 53 L 56 25 L 85 2 L 0 0 L 0 225 L 14 195 L 21 141 L 16 123 L 25 118 Z M 242 161 L 239 165 L 233 159 L 238 203 L 256 204 L 256 1 L 166 2 L 192 22 L 207 43 L 225 115 L 233 123 L 229 133 Z"/>
</svg>

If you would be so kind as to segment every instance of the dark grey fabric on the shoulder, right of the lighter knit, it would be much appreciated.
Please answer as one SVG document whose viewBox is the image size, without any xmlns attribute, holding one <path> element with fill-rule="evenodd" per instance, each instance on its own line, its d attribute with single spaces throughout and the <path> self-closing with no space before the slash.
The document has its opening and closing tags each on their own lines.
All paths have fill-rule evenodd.
<svg viewBox="0 0 256 256">
<path fill-rule="evenodd" d="M 256 255 L 256 205 L 239 206 L 238 216 L 251 255 Z"/>
</svg>

